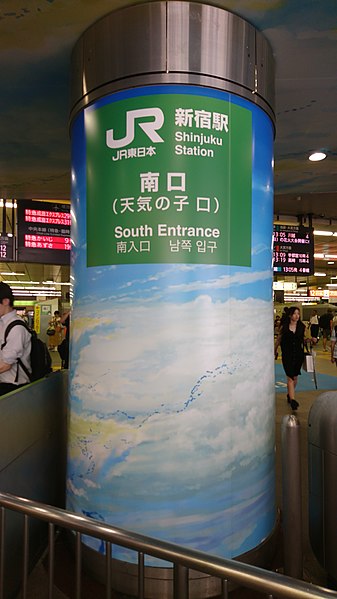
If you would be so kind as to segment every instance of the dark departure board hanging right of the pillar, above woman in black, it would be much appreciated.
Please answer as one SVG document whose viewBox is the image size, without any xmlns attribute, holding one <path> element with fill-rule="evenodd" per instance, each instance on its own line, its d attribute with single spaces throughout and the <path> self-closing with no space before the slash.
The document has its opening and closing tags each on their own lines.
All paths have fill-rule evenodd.
<svg viewBox="0 0 337 599">
<path fill-rule="evenodd" d="M 274 225 L 273 270 L 282 275 L 314 274 L 313 229 L 302 225 Z"/>
</svg>

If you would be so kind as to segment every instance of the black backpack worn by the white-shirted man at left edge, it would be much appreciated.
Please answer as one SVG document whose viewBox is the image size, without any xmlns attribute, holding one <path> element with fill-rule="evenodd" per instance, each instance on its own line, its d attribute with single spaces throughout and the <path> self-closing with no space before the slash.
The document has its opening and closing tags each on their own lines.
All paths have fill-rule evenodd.
<svg viewBox="0 0 337 599">
<path fill-rule="evenodd" d="M 25 371 L 26 375 L 29 377 L 30 382 L 32 383 L 33 381 L 42 379 L 44 376 L 46 376 L 47 374 L 52 372 L 52 367 L 51 367 L 52 360 L 51 360 L 50 353 L 48 351 L 48 347 L 46 346 L 46 344 L 43 341 L 41 341 L 41 339 L 38 339 L 36 332 L 31 331 L 30 328 L 26 325 L 26 323 L 23 320 L 13 320 L 12 322 L 9 323 L 9 325 L 7 326 L 7 328 L 5 330 L 4 342 L 1 345 L 1 349 L 3 349 L 3 347 L 7 343 L 7 337 L 8 337 L 9 332 L 16 325 L 21 325 L 21 326 L 25 327 L 25 329 L 32 336 L 32 348 L 31 348 L 31 352 L 30 352 L 30 363 L 31 363 L 31 368 L 32 368 L 31 373 L 26 368 L 26 366 L 22 363 L 20 358 L 18 358 L 19 366 L 21 366 L 22 370 Z M 16 375 L 16 381 L 17 381 L 17 379 L 18 379 L 18 373 Z"/>
</svg>

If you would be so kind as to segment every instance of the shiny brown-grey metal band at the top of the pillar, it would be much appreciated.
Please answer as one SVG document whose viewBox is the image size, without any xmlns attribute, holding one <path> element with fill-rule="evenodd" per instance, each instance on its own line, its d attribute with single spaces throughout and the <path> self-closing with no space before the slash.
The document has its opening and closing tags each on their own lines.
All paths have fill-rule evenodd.
<svg viewBox="0 0 337 599">
<path fill-rule="evenodd" d="M 115 91 L 187 84 L 244 97 L 274 122 L 267 40 L 241 17 L 209 4 L 171 0 L 111 12 L 80 37 L 71 68 L 71 119 Z"/>
</svg>

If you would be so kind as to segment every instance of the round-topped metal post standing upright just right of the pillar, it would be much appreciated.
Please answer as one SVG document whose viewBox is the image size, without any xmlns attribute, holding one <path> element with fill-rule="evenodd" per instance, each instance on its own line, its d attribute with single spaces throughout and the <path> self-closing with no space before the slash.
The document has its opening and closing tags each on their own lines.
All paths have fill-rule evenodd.
<svg viewBox="0 0 337 599">
<path fill-rule="evenodd" d="M 293 414 L 282 419 L 282 510 L 284 573 L 302 579 L 302 488 L 300 426 Z"/>
</svg>

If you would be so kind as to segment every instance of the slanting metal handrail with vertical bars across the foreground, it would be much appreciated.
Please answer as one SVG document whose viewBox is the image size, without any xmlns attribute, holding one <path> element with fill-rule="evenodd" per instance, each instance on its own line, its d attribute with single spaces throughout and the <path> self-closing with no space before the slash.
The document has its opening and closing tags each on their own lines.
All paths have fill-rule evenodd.
<svg viewBox="0 0 337 599">
<path fill-rule="evenodd" d="M 102 539 L 106 543 L 107 555 L 107 597 L 110 597 L 110 574 L 109 563 L 111 561 L 111 544 L 126 547 L 138 553 L 138 574 L 142 576 L 142 580 L 138 584 L 138 597 L 144 597 L 144 555 L 153 556 L 173 564 L 173 588 L 175 599 L 188 599 L 188 570 L 197 570 L 211 576 L 220 578 L 223 581 L 223 597 L 226 599 L 227 582 L 231 582 L 246 588 L 254 589 L 262 593 L 266 593 L 269 599 L 273 595 L 278 597 L 287 597 L 288 599 L 331 599 L 337 597 L 337 593 L 312 585 L 308 582 L 303 582 L 283 576 L 281 574 L 263 570 L 256 566 L 244 564 L 231 559 L 220 558 L 209 555 L 207 553 L 153 539 L 144 535 L 117 528 L 109 524 L 102 524 L 91 518 L 81 516 L 73 512 L 69 512 L 60 508 L 51 507 L 32 501 L 23 497 L 17 497 L 9 493 L 0 493 L 1 520 L 4 522 L 4 510 L 14 510 L 21 512 L 25 516 L 31 516 L 39 520 L 44 520 L 49 523 L 49 540 L 50 548 L 53 546 L 54 526 L 70 529 L 76 532 L 77 541 L 80 539 L 80 533 Z M 26 520 L 26 518 L 25 518 Z M 2 528 L 2 527 L 1 527 Z M 3 572 L 3 556 L 4 556 L 4 535 L 3 528 L 0 531 L 0 574 Z M 79 545 L 79 542 L 76 543 Z M 77 579 L 80 577 L 80 564 L 76 559 Z M 51 565 L 51 564 L 50 564 Z M 51 570 L 53 567 L 51 565 Z M 50 572 L 49 572 L 50 575 Z M 2 576 L 3 578 L 3 576 Z M 1 583 L 3 584 L 3 582 Z M 51 588 L 52 581 L 49 581 Z M 25 587 L 25 583 L 24 583 Z M 77 586 L 76 597 L 80 597 L 80 591 Z M 50 591 L 52 593 L 52 591 Z M 52 597 L 52 594 L 49 594 Z M 0 593 L 1 597 L 1 593 Z"/>
</svg>

